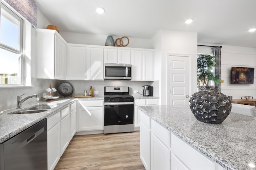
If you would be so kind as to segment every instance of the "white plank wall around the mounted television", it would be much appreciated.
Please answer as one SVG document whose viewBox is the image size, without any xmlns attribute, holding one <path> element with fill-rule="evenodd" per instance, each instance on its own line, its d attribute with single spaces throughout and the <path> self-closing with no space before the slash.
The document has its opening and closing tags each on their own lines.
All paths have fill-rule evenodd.
<svg viewBox="0 0 256 170">
<path fill-rule="evenodd" d="M 200 43 L 200 45 L 204 45 Z M 209 44 L 205 44 L 209 45 Z M 220 46 L 220 45 L 212 45 Z M 198 46 L 198 53 L 211 54 L 211 47 Z M 231 84 L 231 67 L 254 67 L 254 84 Z M 221 48 L 221 85 L 222 93 L 240 99 L 241 96 L 256 97 L 256 49 L 222 45 Z"/>
</svg>

